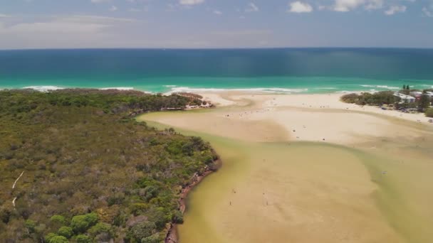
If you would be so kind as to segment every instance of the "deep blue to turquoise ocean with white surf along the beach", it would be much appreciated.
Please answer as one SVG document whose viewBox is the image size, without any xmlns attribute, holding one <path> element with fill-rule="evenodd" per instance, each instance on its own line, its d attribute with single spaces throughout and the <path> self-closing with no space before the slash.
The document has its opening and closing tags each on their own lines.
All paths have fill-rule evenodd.
<svg viewBox="0 0 433 243">
<path fill-rule="evenodd" d="M 433 88 L 433 49 L 0 50 L 0 89 L 329 93 Z"/>
</svg>

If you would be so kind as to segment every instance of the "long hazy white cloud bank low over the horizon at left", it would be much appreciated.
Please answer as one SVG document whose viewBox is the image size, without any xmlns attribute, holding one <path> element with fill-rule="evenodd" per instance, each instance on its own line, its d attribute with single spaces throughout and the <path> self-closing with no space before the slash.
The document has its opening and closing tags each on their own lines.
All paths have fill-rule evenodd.
<svg viewBox="0 0 433 243">
<path fill-rule="evenodd" d="M 0 48 L 109 48 L 143 45 L 140 33 L 124 30 L 144 21 L 106 16 L 37 16 L 1 23 Z M 132 38 L 134 36 L 135 38 Z M 152 41 L 152 43 L 157 43 Z"/>
</svg>

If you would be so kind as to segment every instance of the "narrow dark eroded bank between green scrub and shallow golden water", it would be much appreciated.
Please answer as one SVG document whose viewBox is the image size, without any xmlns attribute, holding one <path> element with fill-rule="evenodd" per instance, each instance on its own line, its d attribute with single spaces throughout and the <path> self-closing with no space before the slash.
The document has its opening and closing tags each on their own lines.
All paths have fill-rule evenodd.
<svg viewBox="0 0 433 243">
<path fill-rule="evenodd" d="M 212 162 L 212 165 L 221 166 L 221 161 L 218 158 L 216 161 Z M 211 166 L 206 166 L 204 173 L 202 175 L 198 175 L 197 173 L 191 178 L 189 185 L 182 188 L 179 199 L 179 211 L 182 212 L 182 215 L 184 215 L 185 210 L 187 210 L 187 197 L 191 190 L 194 189 L 199 183 L 204 180 L 204 178 L 207 177 L 207 175 L 210 175 L 211 173 L 216 172 L 216 170 L 213 170 Z M 179 234 L 177 232 L 177 225 L 176 223 L 171 223 L 167 232 L 167 235 L 165 237 L 165 243 L 179 243 Z"/>
</svg>

